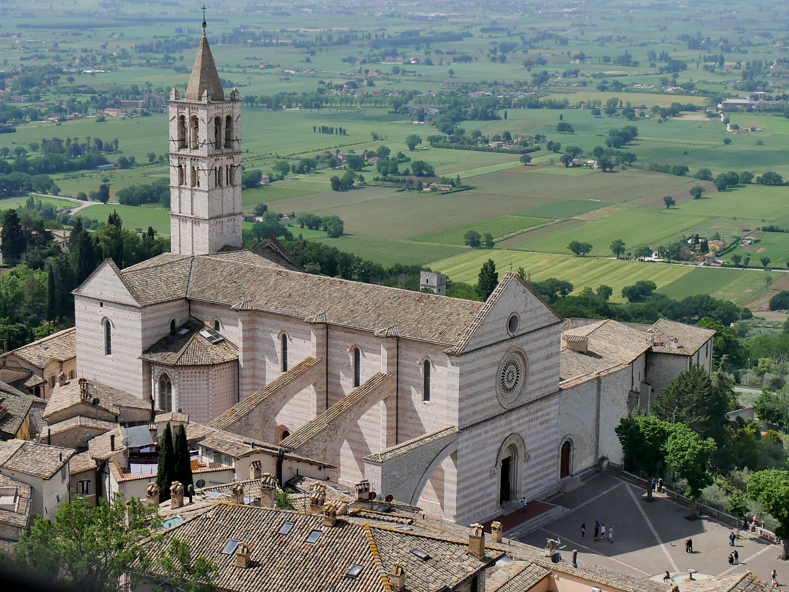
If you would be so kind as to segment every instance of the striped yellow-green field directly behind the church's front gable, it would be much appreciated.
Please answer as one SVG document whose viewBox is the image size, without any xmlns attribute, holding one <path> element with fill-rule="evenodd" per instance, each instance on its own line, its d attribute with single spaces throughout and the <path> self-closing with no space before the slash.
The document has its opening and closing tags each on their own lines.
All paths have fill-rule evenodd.
<svg viewBox="0 0 789 592">
<path fill-rule="evenodd" d="M 523 253 L 503 249 L 493 249 L 492 251 L 475 249 L 469 253 L 436 261 L 431 264 L 431 268 L 447 274 L 450 279 L 456 281 L 477 283 L 480 268 L 488 259 L 495 262 L 499 276 L 510 268 L 517 270 L 522 267 L 531 274 L 533 280 L 565 279 L 573 284 L 575 291 L 581 290 L 585 286 L 596 289 L 600 284 L 606 284 L 614 288 L 612 302 L 623 302 L 622 288 L 630 286 L 639 279 L 651 279 L 658 287 L 663 287 L 694 269 L 682 265 L 573 257 L 550 253 Z"/>
</svg>

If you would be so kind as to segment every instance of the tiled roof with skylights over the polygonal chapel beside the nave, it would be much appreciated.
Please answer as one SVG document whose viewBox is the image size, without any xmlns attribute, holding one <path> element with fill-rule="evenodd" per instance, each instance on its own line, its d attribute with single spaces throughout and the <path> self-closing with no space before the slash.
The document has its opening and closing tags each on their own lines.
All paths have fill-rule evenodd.
<svg viewBox="0 0 789 592">
<path fill-rule="evenodd" d="M 238 359 L 238 348 L 227 339 L 211 343 L 201 335 L 208 327 L 198 320 L 181 325 L 174 335 L 165 335 L 143 352 L 141 360 L 178 365 L 214 365 Z"/>
</svg>

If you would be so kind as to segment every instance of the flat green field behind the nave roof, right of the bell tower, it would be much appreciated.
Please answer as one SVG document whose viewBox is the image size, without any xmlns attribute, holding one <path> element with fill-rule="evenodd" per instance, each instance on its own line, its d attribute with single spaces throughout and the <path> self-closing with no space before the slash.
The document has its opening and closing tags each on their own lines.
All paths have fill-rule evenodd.
<svg viewBox="0 0 789 592">
<path fill-rule="evenodd" d="M 291 229 L 294 234 L 297 230 Z M 306 237 L 305 237 L 306 238 Z M 353 253 L 362 259 L 375 261 L 388 267 L 394 264 L 424 265 L 436 259 L 451 257 L 468 250 L 454 245 L 428 245 L 421 242 L 391 241 L 386 238 L 350 236 L 342 238 L 321 238 L 320 242 Z"/>
</svg>

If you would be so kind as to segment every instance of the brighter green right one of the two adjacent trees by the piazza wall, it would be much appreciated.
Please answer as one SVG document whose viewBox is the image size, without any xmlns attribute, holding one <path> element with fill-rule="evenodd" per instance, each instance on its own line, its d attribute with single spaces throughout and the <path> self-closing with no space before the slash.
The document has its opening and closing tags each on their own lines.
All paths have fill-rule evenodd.
<svg viewBox="0 0 789 592">
<path fill-rule="evenodd" d="M 712 483 L 708 467 L 717 448 L 715 440 L 702 440 L 686 425 L 675 425 L 666 441 L 666 464 L 688 484 L 685 495 L 690 499 L 690 519 L 697 518 L 696 504 L 701 490 Z"/>
</svg>

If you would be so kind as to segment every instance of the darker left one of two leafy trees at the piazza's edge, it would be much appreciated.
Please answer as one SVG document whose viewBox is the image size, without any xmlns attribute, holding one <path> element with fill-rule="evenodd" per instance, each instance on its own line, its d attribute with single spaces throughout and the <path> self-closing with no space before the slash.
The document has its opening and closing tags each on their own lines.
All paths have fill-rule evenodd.
<svg viewBox="0 0 789 592">
<path fill-rule="evenodd" d="M 645 473 L 646 497 L 652 501 L 651 478 L 660 474 L 665 462 L 664 447 L 671 425 L 654 415 L 631 415 L 619 421 L 614 430 L 625 458 Z"/>
</svg>

